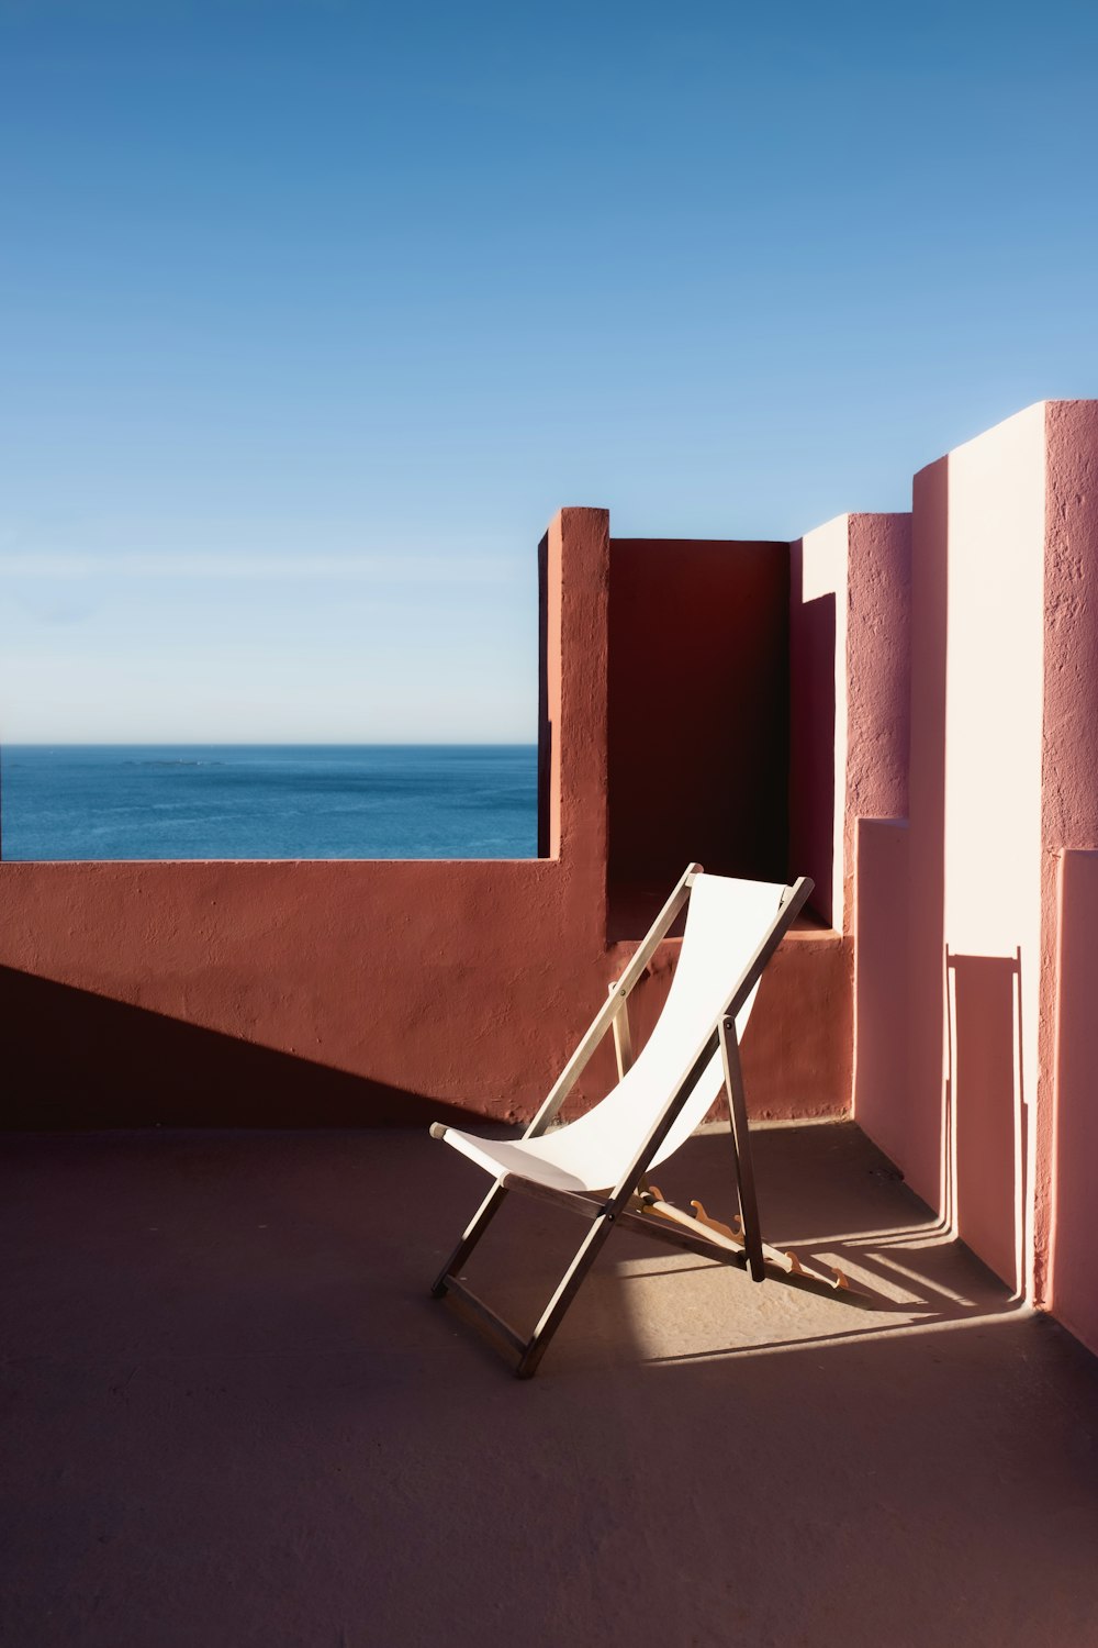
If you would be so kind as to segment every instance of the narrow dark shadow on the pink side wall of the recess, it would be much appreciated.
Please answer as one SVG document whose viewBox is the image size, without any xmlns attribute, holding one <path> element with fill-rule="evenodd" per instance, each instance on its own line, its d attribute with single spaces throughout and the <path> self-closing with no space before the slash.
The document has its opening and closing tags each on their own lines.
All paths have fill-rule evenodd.
<svg viewBox="0 0 1098 1648">
<path fill-rule="evenodd" d="M 835 926 L 835 595 L 802 598 L 803 562 L 803 545 L 792 544 L 789 865 L 812 875 L 808 908 Z"/>
</svg>

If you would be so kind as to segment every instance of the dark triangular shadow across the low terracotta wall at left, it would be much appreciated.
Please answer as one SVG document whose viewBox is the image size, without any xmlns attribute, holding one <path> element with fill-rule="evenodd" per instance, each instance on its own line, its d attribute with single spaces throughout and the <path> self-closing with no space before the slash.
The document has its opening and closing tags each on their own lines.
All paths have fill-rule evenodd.
<svg viewBox="0 0 1098 1648">
<path fill-rule="evenodd" d="M 0 1127 L 416 1127 L 469 1111 L 0 967 Z"/>
</svg>

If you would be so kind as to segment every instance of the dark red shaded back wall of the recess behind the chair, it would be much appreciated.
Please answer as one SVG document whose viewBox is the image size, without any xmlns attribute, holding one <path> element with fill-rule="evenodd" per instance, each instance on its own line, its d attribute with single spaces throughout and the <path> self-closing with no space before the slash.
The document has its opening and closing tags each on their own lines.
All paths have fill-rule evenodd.
<svg viewBox="0 0 1098 1648">
<path fill-rule="evenodd" d="M 785 878 L 789 545 L 611 539 L 609 597 L 607 873 L 639 938 L 690 862 Z"/>
</svg>

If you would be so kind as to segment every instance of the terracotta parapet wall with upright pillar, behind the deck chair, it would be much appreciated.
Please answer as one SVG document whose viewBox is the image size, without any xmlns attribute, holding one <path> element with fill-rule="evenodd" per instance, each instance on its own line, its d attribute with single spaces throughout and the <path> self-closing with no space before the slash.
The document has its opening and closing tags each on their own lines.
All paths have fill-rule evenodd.
<svg viewBox="0 0 1098 1648">
<path fill-rule="evenodd" d="M 621 969 L 606 926 L 606 511 L 563 511 L 540 554 L 553 857 L 2 864 L 8 1126 L 532 1114 Z M 640 987 L 639 1030 L 673 954 Z M 756 1114 L 844 1109 L 848 1012 L 826 934 L 790 939 L 744 1046 Z M 609 1079 L 607 1050 L 578 1103 Z"/>
</svg>

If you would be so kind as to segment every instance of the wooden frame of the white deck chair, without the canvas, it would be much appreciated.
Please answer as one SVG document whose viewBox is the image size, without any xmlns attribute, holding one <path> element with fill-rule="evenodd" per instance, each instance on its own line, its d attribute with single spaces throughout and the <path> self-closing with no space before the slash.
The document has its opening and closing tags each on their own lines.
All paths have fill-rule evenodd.
<svg viewBox="0 0 1098 1648">
<path fill-rule="evenodd" d="M 621 979 L 611 986 L 607 1000 L 599 1009 L 586 1035 L 576 1046 L 576 1051 L 565 1065 L 540 1111 L 527 1127 L 523 1139 L 537 1139 L 548 1129 L 607 1030 L 612 1030 L 614 1033 L 617 1071 L 619 1076 L 624 1076 L 632 1061 L 627 1005 L 629 995 L 652 961 L 658 944 L 667 938 L 672 923 L 690 898 L 690 888 L 693 887 L 695 877 L 700 873 L 700 864 L 691 864 L 683 872 L 673 893 L 652 923 L 647 938 L 639 944 Z M 435 1299 L 441 1299 L 444 1294 L 454 1294 L 459 1300 L 463 1300 L 472 1315 L 477 1317 L 492 1333 L 495 1333 L 517 1356 L 517 1378 L 528 1379 L 537 1371 L 550 1340 L 556 1333 L 571 1300 L 576 1297 L 579 1285 L 594 1264 L 603 1243 L 614 1228 L 639 1231 L 655 1241 L 670 1243 L 677 1248 L 703 1254 L 706 1259 L 716 1259 L 721 1264 L 736 1266 L 747 1271 L 756 1282 L 765 1280 L 767 1276 L 775 1276 L 793 1287 L 808 1287 L 813 1292 L 836 1294 L 849 1304 L 874 1305 L 874 1300 L 869 1300 L 868 1295 L 856 1294 L 849 1289 L 846 1280 L 838 1272 L 835 1280 L 815 1276 L 813 1272 L 805 1271 L 792 1254 L 784 1254 L 769 1248 L 762 1241 L 762 1231 L 759 1226 L 759 1208 L 747 1131 L 747 1101 L 739 1060 L 736 1015 L 759 982 L 767 962 L 782 943 L 782 938 L 802 910 L 805 900 L 812 893 L 812 880 L 802 875 L 800 880 L 785 890 L 770 928 L 744 967 L 733 994 L 724 1004 L 723 1012 L 714 1020 L 713 1028 L 695 1053 L 675 1093 L 668 1098 L 668 1103 L 663 1106 L 640 1149 L 635 1152 L 634 1159 L 629 1162 L 606 1200 L 568 1190 L 556 1190 L 535 1180 L 523 1178 L 520 1173 L 509 1172 L 502 1173 L 494 1182 L 487 1196 L 463 1231 L 458 1246 L 435 1279 L 431 1294 Z M 690 1099 L 693 1088 L 701 1079 L 701 1074 L 718 1046 L 724 1065 L 724 1094 L 729 1111 L 736 1198 L 741 1226 L 739 1233 L 729 1229 L 726 1224 L 710 1220 L 700 1203 L 693 1203 L 698 1210 L 698 1216 L 695 1218 L 663 1201 L 655 1188 L 640 1190 L 652 1159 L 673 1127 L 675 1119 Z M 444 1134 L 446 1127 L 443 1124 L 436 1122 L 431 1127 L 431 1135 L 435 1139 L 443 1139 Z M 504 1322 L 504 1318 L 497 1315 L 491 1305 L 479 1299 L 472 1289 L 466 1285 L 466 1282 L 458 1279 L 458 1271 L 461 1271 L 466 1264 L 469 1254 L 499 1213 L 510 1190 L 517 1190 L 522 1195 L 533 1196 L 535 1200 L 551 1201 L 558 1206 L 570 1208 L 573 1213 L 578 1213 L 589 1221 L 586 1236 L 579 1243 L 571 1264 L 565 1271 L 556 1292 L 545 1307 L 530 1338 L 523 1338 L 517 1333 L 515 1328 L 510 1327 L 509 1322 Z"/>
</svg>

